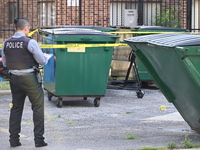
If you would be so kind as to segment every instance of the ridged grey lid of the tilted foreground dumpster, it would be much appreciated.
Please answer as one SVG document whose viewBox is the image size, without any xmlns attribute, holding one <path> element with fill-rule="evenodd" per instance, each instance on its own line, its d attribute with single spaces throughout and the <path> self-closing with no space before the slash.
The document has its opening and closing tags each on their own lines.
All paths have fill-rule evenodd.
<svg viewBox="0 0 200 150">
<path fill-rule="evenodd" d="M 177 46 L 200 46 L 200 35 L 180 34 L 180 33 L 162 33 L 145 36 L 132 37 L 124 40 L 133 43 L 150 43 L 159 46 L 177 47 Z"/>
</svg>

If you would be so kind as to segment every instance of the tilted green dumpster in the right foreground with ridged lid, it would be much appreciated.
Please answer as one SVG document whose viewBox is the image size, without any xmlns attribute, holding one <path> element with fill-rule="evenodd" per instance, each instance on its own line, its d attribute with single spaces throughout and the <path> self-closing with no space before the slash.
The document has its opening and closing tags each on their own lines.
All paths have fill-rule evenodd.
<svg viewBox="0 0 200 150">
<path fill-rule="evenodd" d="M 191 129 L 200 132 L 200 35 L 165 33 L 125 41 Z"/>
</svg>

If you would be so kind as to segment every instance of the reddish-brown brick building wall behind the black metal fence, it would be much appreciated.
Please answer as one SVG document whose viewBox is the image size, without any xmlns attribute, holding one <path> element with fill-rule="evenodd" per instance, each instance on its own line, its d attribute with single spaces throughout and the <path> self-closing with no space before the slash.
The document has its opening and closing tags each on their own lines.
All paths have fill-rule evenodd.
<svg viewBox="0 0 200 150">
<path fill-rule="evenodd" d="M 40 27 L 40 3 L 54 2 L 55 5 L 55 24 L 56 25 L 79 25 L 80 19 L 82 25 L 91 26 L 110 26 L 110 3 L 119 0 L 82 0 L 81 17 L 79 16 L 79 6 L 68 6 L 67 0 L 20 0 L 20 16 L 27 17 L 32 24 L 32 29 Z M 138 0 L 120 0 L 121 2 L 137 2 Z M 144 0 L 148 2 L 149 0 Z M 151 0 L 158 2 L 158 0 Z M 0 28 L 14 29 L 13 24 L 9 22 L 9 2 L 16 0 L 0 0 Z M 150 2 L 150 1 L 149 1 Z M 174 4 L 182 10 L 183 27 L 186 27 L 186 2 L 184 0 L 163 0 L 169 7 Z M 120 10 L 119 10 L 120 11 Z M 7 38 L 13 31 L 0 32 L 0 38 Z"/>
</svg>

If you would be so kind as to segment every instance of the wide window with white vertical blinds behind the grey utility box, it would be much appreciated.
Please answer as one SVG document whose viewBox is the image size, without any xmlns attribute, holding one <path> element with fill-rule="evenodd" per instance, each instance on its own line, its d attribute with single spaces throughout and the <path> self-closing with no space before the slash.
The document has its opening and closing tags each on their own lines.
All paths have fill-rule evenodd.
<svg viewBox="0 0 200 150">
<path fill-rule="evenodd" d="M 143 23 L 144 25 L 152 25 L 155 22 L 156 12 L 160 10 L 160 2 L 148 2 L 144 3 L 143 5 Z M 138 16 L 138 3 L 135 2 L 111 2 L 111 9 L 110 9 L 110 25 L 111 26 L 125 26 L 130 27 L 131 24 L 127 24 L 127 18 L 129 20 L 132 19 L 133 21 L 129 21 L 132 25 L 137 25 Z M 134 12 L 130 14 L 129 12 Z M 131 18 L 134 17 L 134 18 Z M 136 22 L 135 22 L 136 21 Z"/>
</svg>

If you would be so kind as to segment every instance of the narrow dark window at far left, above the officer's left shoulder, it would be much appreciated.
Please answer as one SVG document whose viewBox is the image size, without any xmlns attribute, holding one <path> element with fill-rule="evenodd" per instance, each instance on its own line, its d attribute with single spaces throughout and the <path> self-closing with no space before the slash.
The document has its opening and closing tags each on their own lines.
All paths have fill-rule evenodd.
<svg viewBox="0 0 200 150">
<path fill-rule="evenodd" d="M 10 2 L 9 3 L 9 24 L 14 24 L 14 19 L 18 16 L 17 15 L 17 3 Z"/>
</svg>

